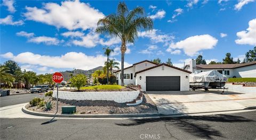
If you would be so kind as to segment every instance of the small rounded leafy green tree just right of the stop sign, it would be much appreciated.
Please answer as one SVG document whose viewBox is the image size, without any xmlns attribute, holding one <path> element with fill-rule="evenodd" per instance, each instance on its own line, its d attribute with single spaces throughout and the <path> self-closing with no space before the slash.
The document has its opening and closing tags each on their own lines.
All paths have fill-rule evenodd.
<svg viewBox="0 0 256 140">
<path fill-rule="evenodd" d="M 86 76 L 84 74 L 77 74 L 70 78 L 70 82 L 71 85 L 75 86 L 79 91 L 80 88 L 86 84 Z"/>
</svg>

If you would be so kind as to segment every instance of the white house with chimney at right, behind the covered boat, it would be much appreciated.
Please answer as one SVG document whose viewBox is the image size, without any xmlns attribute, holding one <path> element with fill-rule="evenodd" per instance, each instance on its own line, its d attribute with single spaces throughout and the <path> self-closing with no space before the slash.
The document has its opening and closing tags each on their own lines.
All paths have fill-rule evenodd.
<svg viewBox="0 0 256 140">
<path fill-rule="evenodd" d="M 192 67 L 190 67 L 191 65 Z M 228 78 L 256 77 L 256 61 L 241 64 L 196 65 L 196 60 L 192 59 L 189 65 L 186 65 L 183 69 L 196 74 L 215 69 L 219 73 L 226 75 Z"/>
</svg>

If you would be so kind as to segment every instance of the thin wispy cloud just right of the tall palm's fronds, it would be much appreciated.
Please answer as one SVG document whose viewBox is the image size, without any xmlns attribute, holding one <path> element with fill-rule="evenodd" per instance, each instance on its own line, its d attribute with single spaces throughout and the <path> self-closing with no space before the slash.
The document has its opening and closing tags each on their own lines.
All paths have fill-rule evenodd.
<svg viewBox="0 0 256 140">
<path fill-rule="evenodd" d="M 157 32 L 158 30 L 156 29 L 153 29 L 151 31 L 138 32 L 138 37 L 149 38 L 153 43 L 169 42 L 174 39 L 174 36 L 169 36 L 167 34 L 158 34 Z"/>
</svg>

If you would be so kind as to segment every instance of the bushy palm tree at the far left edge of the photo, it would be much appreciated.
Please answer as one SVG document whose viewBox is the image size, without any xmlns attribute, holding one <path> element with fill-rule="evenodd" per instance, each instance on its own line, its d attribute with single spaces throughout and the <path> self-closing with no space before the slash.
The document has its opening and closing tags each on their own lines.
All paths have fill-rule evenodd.
<svg viewBox="0 0 256 140">
<path fill-rule="evenodd" d="M 4 83 L 8 86 L 12 86 L 15 78 L 10 73 L 10 69 L 7 67 L 0 67 L 0 83 Z"/>
</svg>

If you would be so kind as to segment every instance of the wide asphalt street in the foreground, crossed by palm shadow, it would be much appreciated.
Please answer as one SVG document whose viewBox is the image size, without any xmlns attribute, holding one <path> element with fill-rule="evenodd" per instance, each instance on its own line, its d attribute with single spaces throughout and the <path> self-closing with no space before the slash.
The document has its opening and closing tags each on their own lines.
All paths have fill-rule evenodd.
<svg viewBox="0 0 256 140">
<path fill-rule="evenodd" d="M 256 111 L 161 119 L 1 118 L 1 139 L 252 139 Z"/>
</svg>

